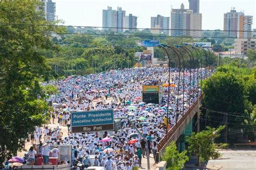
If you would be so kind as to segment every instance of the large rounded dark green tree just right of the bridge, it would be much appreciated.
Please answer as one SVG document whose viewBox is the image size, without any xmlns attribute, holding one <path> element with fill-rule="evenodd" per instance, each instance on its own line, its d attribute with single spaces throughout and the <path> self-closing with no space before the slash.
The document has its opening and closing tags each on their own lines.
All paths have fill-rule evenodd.
<svg viewBox="0 0 256 170">
<path fill-rule="evenodd" d="M 241 124 L 239 115 L 246 109 L 244 81 L 226 67 L 220 67 L 218 70 L 219 72 L 208 78 L 203 85 L 203 107 L 209 110 L 207 119 L 211 126 L 217 127 L 225 120 L 225 114 L 222 112 L 232 112 L 237 114 L 235 117 L 227 115 L 228 123 Z"/>
</svg>

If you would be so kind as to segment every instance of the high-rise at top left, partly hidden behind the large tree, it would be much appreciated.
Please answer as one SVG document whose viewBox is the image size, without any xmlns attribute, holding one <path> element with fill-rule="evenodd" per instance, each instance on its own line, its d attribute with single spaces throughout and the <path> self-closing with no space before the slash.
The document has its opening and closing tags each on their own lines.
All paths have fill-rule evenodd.
<svg viewBox="0 0 256 170">
<path fill-rule="evenodd" d="M 42 3 L 42 8 L 37 6 L 36 10 L 43 10 L 45 12 L 46 21 L 56 21 L 56 3 L 52 0 L 39 0 Z"/>
</svg>

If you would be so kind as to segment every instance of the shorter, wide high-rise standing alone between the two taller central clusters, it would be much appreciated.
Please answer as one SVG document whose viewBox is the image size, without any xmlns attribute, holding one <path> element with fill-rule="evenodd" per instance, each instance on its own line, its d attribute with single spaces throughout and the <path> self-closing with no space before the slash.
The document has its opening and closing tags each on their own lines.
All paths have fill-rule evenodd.
<svg viewBox="0 0 256 170">
<path fill-rule="evenodd" d="M 161 15 L 157 15 L 157 17 L 151 17 L 151 29 L 156 29 L 151 30 L 151 33 L 168 34 L 170 29 L 170 17 L 163 17 Z"/>
</svg>

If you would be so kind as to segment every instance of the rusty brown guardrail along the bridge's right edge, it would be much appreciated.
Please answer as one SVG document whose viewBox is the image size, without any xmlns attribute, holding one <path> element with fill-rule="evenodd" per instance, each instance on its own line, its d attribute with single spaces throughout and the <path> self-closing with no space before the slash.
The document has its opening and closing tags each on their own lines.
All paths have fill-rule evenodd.
<svg viewBox="0 0 256 170">
<path fill-rule="evenodd" d="M 203 98 L 203 95 L 199 96 L 199 101 Z M 169 143 L 169 141 L 171 140 L 173 134 L 178 130 L 178 128 L 181 126 L 181 124 L 183 124 L 183 122 L 185 121 L 185 119 L 188 117 L 188 115 L 190 115 L 190 113 L 194 110 L 194 108 L 196 108 L 196 106 L 198 105 L 198 100 L 196 100 L 194 102 L 194 104 L 187 110 L 187 112 L 183 115 L 183 117 L 181 117 L 177 123 L 171 127 L 171 129 L 165 134 L 164 138 L 162 138 L 157 145 L 157 153 L 159 153 L 162 149 L 165 148 L 166 144 Z"/>
</svg>

